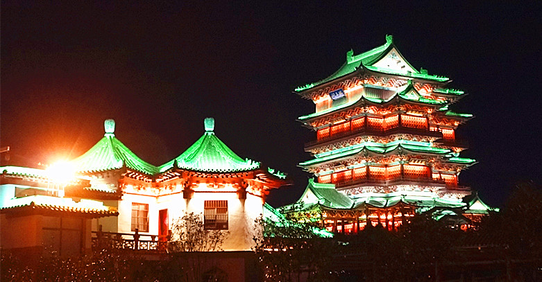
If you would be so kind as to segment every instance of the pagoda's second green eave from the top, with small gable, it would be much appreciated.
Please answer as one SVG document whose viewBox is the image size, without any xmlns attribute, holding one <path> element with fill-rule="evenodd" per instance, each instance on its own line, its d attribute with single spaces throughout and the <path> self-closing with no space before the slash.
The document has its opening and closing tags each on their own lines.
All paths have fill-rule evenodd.
<svg viewBox="0 0 542 282">
<path fill-rule="evenodd" d="M 351 105 L 354 105 L 361 100 L 365 100 L 365 101 L 369 101 L 369 102 L 377 103 L 377 104 L 383 104 L 383 103 L 388 103 L 389 101 L 393 100 L 396 97 L 403 98 L 404 100 L 407 100 L 410 102 L 423 103 L 427 105 L 445 105 L 448 103 L 448 101 L 446 100 L 433 100 L 433 99 L 428 99 L 428 98 L 423 97 L 421 94 L 418 93 L 418 91 L 416 91 L 416 89 L 412 85 L 412 82 L 409 82 L 407 85 L 398 89 L 398 91 L 392 96 L 390 96 L 388 99 L 370 98 L 363 95 L 359 97 L 357 100 L 350 100 L 347 103 L 330 107 L 328 109 L 324 109 L 321 112 L 315 112 L 312 114 L 307 114 L 305 116 L 300 116 L 298 117 L 298 119 L 300 121 L 305 121 L 309 118 L 314 118 L 316 116 L 323 116 L 325 114 L 329 114 L 330 112 L 337 111 L 337 109 L 344 109 L 346 107 L 350 107 Z"/>
</svg>

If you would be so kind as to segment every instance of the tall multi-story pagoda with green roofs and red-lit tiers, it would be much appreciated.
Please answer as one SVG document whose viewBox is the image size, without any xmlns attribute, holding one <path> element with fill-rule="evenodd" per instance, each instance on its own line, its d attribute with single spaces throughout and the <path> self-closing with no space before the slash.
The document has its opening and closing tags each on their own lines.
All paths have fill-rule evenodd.
<svg viewBox="0 0 542 282">
<path fill-rule="evenodd" d="M 316 105 L 298 119 L 316 132 L 305 145 L 314 158 L 300 166 L 317 181 L 281 211 L 344 233 L 366 224 L 394 229 L 429 210 L 468 222 L 462 211 L 472 201 L 463 198 L 471 190 L 458 176 L 475 160 L 459 157 L 466 144 L 455 130 L 473 115 L 448 109 L 464 96 L 448 82 L 414 69 L 388 35 L 386 44 L 348 51 L 338 71 L 296 89 Z"/>
</svg>

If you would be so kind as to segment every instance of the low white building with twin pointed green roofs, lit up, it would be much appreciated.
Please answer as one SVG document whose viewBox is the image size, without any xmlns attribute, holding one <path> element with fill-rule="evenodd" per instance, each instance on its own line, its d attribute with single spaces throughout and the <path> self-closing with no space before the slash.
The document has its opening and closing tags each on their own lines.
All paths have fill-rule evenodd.
<svg viewBox="0 0 542 282">
<path fill-rule="evenodd" d="M 266 195 L 287 184 L 284 174 L 232 152 L 214 135 L 213 118 L 205 119 L 200 139 L 162 166 L 146 163 L 131 152 L 115 137 L 115 122 L 107 120 L 103 138 L 69 165 L 75 177 L 62 184 L 51 179 L 51 171 L 0 168 L 2 224 L 39 229 L 36 240 L 21 245 L 16 240 L 20 230 L 8 234 L 10 229 L 3 225 L 1 248 L 48 245 L 53 233 L 42 216 L 65 222 L 66 218 L 85 218 L 82 223 L 76 221 L 83 224 L 76 238 L 83 236 L 82 244 L 90 249 L 91 230 L 123 238 L 134 238 L 135 233 L 153 236 L 155 244 L 157 238 L 167 240 L 178 218 L 194 213 L 203 216 L 205 229 L 228 231 L 221 249 L 250 251 L 255 220 L 274 212 L 265 204 Z M 67 174 L 65 168 L 58 175 Z M 29 211 L 35 216 L 22 220 Z M 35 222 L 44 223 L 33 227 Z M 62 229 L 62 222 L 57 229 Z M 72 249 L 81 249 L 80 245 Z"/>
</svg>

